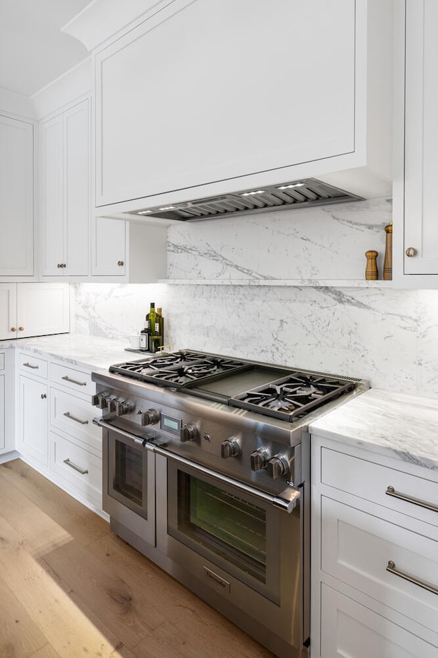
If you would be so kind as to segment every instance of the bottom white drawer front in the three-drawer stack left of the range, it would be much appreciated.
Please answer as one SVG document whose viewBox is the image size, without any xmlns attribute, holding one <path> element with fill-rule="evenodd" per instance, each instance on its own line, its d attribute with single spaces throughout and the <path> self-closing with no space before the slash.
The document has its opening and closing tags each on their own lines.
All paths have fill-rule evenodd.
<svg viewBox="0 0 438 658">
<path fill-rule="evenodd" d="M 102 459 L 58 436 L 51 438 L 51 470 L 101 506 Z"/>
</svg>

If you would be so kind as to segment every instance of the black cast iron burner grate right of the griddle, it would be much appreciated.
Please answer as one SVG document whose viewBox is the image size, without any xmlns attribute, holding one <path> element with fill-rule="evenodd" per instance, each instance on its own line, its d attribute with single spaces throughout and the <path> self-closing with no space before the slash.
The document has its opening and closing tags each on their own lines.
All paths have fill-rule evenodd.
<svg viewBox="0 0 438 658">
<path fill-rule="evenodd" d="M 229 405 L 292 422 L 354 386 L 352 381 L 294 374 L 235 395 Z"/>
</svg>

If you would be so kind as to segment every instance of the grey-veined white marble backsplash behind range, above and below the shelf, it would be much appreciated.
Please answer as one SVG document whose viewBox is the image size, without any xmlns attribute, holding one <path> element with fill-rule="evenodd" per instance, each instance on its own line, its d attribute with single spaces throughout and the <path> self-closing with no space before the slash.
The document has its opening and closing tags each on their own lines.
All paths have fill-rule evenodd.
<svg viewBox="0 0 438 658">
<path fill-rule="evenodd" d="M 389 221 L 390 199 L 377 199 L 172 226 L 169 278 L 217 283 L 75 284 L 75 331 L 127 345 L 155 301 L 174 350 L 317 369 L 438 398 L 438 291 L 354 284 L 364 278 L 367 249 L 379 252 L 382 269 Z M 269 283 L 297 278 L 314 285 Z M 223 284 L 231 279 L 251 285 Z"/>
</svg>

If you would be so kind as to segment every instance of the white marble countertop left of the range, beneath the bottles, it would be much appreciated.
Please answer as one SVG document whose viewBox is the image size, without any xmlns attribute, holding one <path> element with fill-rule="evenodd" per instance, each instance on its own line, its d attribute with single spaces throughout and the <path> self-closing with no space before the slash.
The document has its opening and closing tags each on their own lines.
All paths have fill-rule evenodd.
<svg viewBox="0 0 438 658">
<path fill-rule="evenodd" d="M 51 356 L 69 365 L 91 370 L 107 370 L 114 363 L 152 356 L 149 352 L 127 352 L 124 341 L 96 338 L 81 334 L 55 334 L 13 341 L 0 341 L 1 348 L 13 347 L 41 356 Z"/>
</svg>

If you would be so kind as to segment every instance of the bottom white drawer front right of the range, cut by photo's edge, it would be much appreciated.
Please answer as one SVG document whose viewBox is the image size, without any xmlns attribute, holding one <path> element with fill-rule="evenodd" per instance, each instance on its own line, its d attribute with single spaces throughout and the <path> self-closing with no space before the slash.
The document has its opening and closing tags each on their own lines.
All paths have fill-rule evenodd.
<svg viewBox="0 0 438 658">
<path fill-rule="evenodd" d="M 437 658 L 436 646 L 331 587 L 322 585 L 321 602 L 324 658 Z"/>
</svg>

